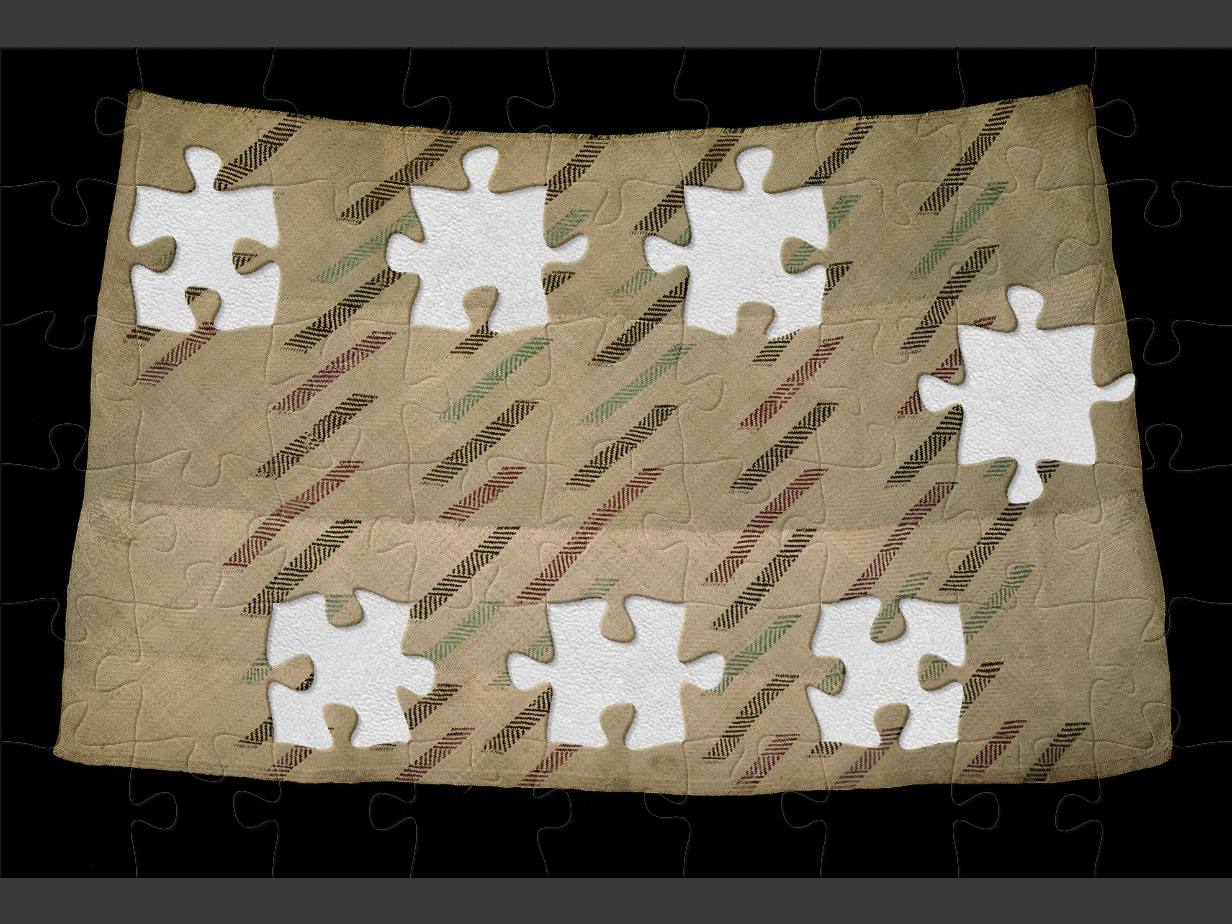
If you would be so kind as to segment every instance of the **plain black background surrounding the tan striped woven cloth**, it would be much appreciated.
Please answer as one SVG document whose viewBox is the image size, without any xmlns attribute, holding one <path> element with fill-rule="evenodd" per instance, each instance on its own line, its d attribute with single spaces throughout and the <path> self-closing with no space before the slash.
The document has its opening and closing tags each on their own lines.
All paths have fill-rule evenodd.
<svg viewBox="0 0 1232 924">
<path fill-rule="evenodd" d="M 30 51 L 0 58 L 0 872 L 1226 875 L 1232 147 L 1223 52 Z M 1089 84 L 1168 595 L 1173 759 L 1103 781 L 753 797 L 277 785 L 69 764 L 63 600 L 127 92 L 458 129 L 646 132 Z M 1041 679 L 1046 683 L 1046 679 Z"/>
</svg>

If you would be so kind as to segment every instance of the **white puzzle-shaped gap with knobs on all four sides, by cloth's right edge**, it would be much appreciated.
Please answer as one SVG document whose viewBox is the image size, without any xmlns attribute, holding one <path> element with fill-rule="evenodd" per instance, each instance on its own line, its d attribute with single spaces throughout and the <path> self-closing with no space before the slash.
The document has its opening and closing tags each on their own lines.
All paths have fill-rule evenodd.
<svg viewBox="0 0 1232 924">
<path fill-rule="evenodd" d="M 1008 495 L 1010 503 L 1026 504 L 1044 493 L 1036 462 L 1095 464 L 1090 407 L 1124 400 L 1135 379 L 1127 373 L 1096 386 L 1090 362 L 1094 325 L 1044 330 L 1036 326 L 1044 308 L 1039 292 L 1010 286 L 1008 299 L 1018 326 L 1009 333 L 960 326 L 962 384 L 920 376 L 919 395 L 930 411 L 962 405 L 958 464 L 1015 460 Z"/>
</svg>

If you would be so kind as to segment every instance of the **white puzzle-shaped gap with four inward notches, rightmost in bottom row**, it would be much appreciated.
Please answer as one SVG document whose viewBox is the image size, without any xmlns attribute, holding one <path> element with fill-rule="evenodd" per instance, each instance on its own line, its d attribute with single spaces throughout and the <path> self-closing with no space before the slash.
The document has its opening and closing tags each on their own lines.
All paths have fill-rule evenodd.
<svg viewBox="0 0 1232 924">
<path fill-rule="evenodd" d="M 899 738 L 903 748 L 958 739 L 962 687 L 951 683 L 928 691 L 919 681 L 919 664 L 925 655 L 938 655 L 954 665 L 966 658 L 958 605 L 904 598 L 898 609 L 906 631 L 891 642 L 873 642 L 872 626 L 881 612 L 877 598 L 822 604 L 813 654 L 838 658 L 845 670 L 838 694 L 808 687 L 808 702 L 823 742 L 877 747 L 881 734 L 873 715 L 892 703 L 904 703 L 910 710 Z"/>
</svg>

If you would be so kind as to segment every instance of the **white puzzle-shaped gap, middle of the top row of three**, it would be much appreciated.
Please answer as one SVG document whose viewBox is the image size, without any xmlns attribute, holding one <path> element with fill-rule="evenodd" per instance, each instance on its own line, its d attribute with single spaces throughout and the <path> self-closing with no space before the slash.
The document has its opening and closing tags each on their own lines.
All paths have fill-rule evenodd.
<svg viewBox="0 0 1232 924">
<path fill-rule="evenodd" d="M 424 241 L 405 234 L 389 237 L 386 262 L 393 270 L 419 276 L 410 312 L 413 324 L 468 329 L 463 297 L 488 286 L 499 292 L 488 319 L 492 330 L 547 324 L 547 296 L 540 271 L 548 262 L 573 262 L 585 253 L 585 234 L 554 246 L 545 240 L 545 186 L 492 191 L 489 181 L 499 156 L 495 148 L 467 152 L 462 158 L 469 181 L 466 190 L 416 186 L 415 211 L 424 227 Z"/>
</svg>

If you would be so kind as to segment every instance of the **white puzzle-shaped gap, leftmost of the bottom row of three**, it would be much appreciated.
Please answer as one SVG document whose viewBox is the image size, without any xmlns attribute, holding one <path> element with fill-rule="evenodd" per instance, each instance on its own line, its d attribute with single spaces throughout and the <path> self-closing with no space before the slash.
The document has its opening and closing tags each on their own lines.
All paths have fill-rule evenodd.
<svg viewBox="0 0 1232 924">
<path fill-rule="evenodd" d="M 307 654 L 313 679 L 306 690 L 270 684 L 274 740 L 329 748 L 333 736 L 323 713 L 326 705 L 355 710 L 357 724 L 350 738 L 357 748 L 410 740 L 397 687 L 424 695 L 432 689 L 435 675 L 430 660 L 402 653 L 410 604 L 367 590 L 356 590 L 355 596 L 363 618 L 347 628 L 326 620 L 322 594 L 275 604 L 266 660 L 277 669 L 290 658 Z"/>
</svg>

